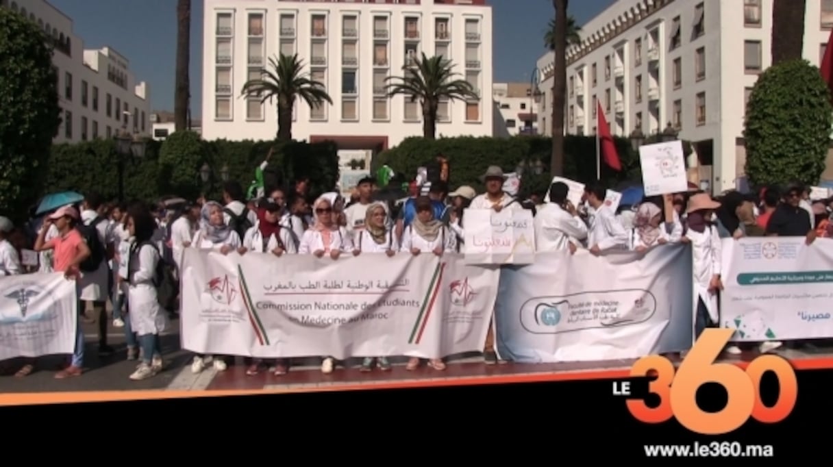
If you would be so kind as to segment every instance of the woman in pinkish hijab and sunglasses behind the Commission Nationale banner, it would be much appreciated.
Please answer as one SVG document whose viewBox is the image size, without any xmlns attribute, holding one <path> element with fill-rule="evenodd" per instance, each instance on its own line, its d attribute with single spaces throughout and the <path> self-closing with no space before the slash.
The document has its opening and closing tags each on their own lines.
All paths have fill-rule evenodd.
<svg viewBox="0 0 833 467">
<path fill-rule="evenodd" d="M 299 255 L 312 253 L 318 258 L 328 255 L 337 260 L 342 253 L 358 253 L 358 250 L 353 249 L 353 242 L 347 235 L 347 230 L 336 223 L 330 199 L 330 196 L 321 196 L 312 204 L 313 223 L 301 238 L 301 245 L 298 246 Z M 321 364 L 322 373 L 332 373 L 334 365 L 335 360 L 332 357 L 325 357 Z"/>
</svg>

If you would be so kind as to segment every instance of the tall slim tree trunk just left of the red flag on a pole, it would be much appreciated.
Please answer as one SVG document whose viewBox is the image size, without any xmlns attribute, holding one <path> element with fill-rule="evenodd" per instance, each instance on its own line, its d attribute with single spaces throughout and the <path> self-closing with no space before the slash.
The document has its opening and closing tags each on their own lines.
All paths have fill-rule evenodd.
<svg viewBox="0 0 833 467">
<path fill-rule="evenodd" d="M 552 158 L 550 173 L 553 176 L 561 176 L 564 173 L 567 0 L 552 0 L 552 6 L 556 9 L 556 28 L 553 32 L 556 57 L 555 76 L 552 79 Z"/>
</svg>

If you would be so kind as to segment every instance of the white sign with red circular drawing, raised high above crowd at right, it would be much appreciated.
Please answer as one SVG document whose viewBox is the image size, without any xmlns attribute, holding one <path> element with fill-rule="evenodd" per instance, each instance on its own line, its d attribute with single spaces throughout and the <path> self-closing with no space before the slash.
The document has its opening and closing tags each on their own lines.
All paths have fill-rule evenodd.
<svg viewBox="0 0 833 467">
<path fill-rule="evenodd" d="M 685 154 L 681 141 L 659 142 L 639 148 L 645 196 L 688 190 Z"/>
</svg>

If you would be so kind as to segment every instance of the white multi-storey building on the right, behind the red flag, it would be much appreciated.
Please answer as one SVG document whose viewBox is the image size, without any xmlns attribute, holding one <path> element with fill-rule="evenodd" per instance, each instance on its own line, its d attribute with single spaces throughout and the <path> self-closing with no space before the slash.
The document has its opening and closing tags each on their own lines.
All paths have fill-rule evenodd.
<svg viewBox="0 0 833 467">
<path fill-rule="evenodd" d="M 803 56 L 820 64 L 833 27 L 833 0 L 806 0 Z M 601 102 L 611 133 L 662 132 L 691 141 L 690 166 L 711 191 L 744 175 L 746 101 L 771 64 L 772 0 L 618 0 L 581 26 L 567 49 L 568 134 L 596 132 Z M 538 61 L 552 99 L 554 55 Z M 551 110 L 539 125 L 551 133 Z"/>
</svg>

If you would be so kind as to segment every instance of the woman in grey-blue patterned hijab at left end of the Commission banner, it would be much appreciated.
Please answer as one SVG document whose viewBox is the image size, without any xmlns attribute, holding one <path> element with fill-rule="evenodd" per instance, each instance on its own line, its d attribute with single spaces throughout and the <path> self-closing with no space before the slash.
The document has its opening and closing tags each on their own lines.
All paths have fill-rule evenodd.
<svg viewBox="0 0 833 467">
<path fill-rule="evenodd" d="M 200 228 L 194 234 L 191 246 L 202 250 L 219 251 L 227 255 L 232 251 L 237 251 L 241 245 L 240 236 L 226 223 L 226 216 L 220 203 L 208 201 L 202 205 Z M 222 355 L 194 355 L 191 370 L 199 373 L 205 369 L 205 365 L 212 362 L 217 371 L 225 371 L 228 368 Z"/>
</svg>

